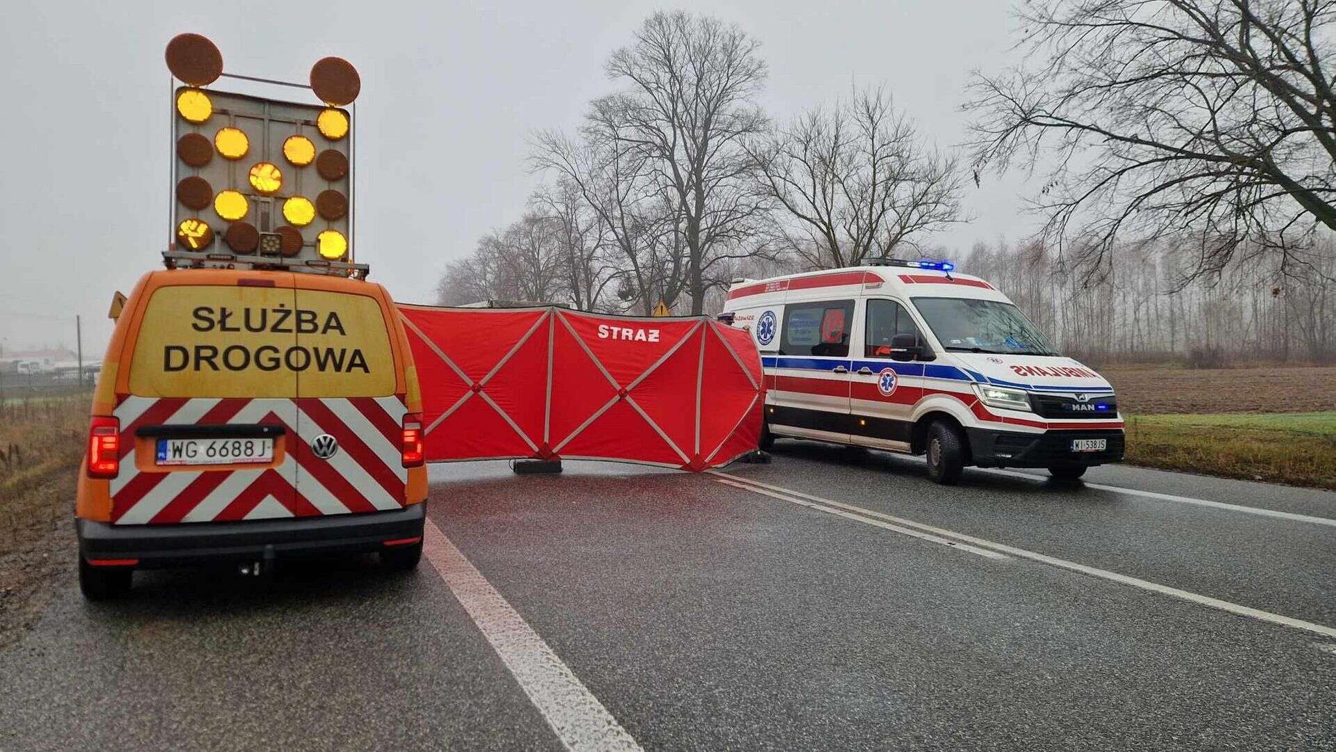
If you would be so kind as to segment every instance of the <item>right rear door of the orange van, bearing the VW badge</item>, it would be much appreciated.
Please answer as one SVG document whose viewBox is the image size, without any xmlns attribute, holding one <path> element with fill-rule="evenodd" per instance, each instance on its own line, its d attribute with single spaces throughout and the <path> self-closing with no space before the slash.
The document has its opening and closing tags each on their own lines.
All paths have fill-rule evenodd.
<svg viewBox="0 0 1336 752">
<path fill-rule="evenodd" d="M 299 496 L 325 514 L 401 509 L 407 409 L 402 354 L 391 345 L 397 314 L 371 283 L 310 287 L 303 280 L 297 290 L 297 338 L 310 358 L 297 374 Z"/>
</svg>

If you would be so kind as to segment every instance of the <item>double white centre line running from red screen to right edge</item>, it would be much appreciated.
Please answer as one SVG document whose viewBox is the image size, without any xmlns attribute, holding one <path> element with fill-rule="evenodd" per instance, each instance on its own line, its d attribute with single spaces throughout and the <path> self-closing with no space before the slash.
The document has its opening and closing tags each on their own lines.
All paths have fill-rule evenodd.
<svg viewBox="0 0 1336 752">
<path fill-rule="evenodd" d="M 973 544 L 975 546 L 987 548 L 987 549 L 998 550 L 998 552 L 1002 552 L 1002 553 L 1009 553 L 1011 556 L 1021 557 L 1021 558 L 1029 558 L 1031 561 L 1038 561 L 1039 564 L 1047 564 L 1050 566 L 1057 566 L 1059 569 L 1067 569 L 1067 570 L 1071 570 L 1071 572 L 1079 572 L 1081 574 L 1089 574 L 1090 577 L 1098 577 L 1101 580 L 1109 580 L 1112 582 L 1118 582 L 1118 584 L 1122 584 L 1122 585 L 1132 585 L 1133 588 L 1140 588 L 1142 590 L 1149 590 L 1152 593 L 1160 593 L 1161 596 L 1169 596 L 1169 597 L 1173 597 L 1173 598 L 1180 598 L 1180 600 L 1189 601 L 1189 602 L 1193 602 L 1193 604 L 1197 604 L 1197 605 L 1204 605 L 1204 606 L 1208 606 L 1208 608 L 1224 610 L 1224 612 L 1228 612 L 1228 613 L 1232 613 L 1232 614 L 1236 614 L 1236 616 L 1246 616 L 1248 618 L 1256 618 L 1259 621 L 1265 621 L 1268 624 L 1276 624 L 1276 625 L 1280 625 L 1280 626 L 1289 626 L 1289 628 L 1293 628 L 1293 629 L 1304 629 L 1304 630 L 1312 632 L 1315 634 L 1321 634 L 1323 637 L 1336 637 L 1336 628 L 1327 626 L 1324 624 L 1315 624 L 1312 621 L 1304 621 L 1301 618 L 1292 618 L 1292 617 L 1288 617 L 1288 616 L 1281 616 L 1279 613 L 1271 613 L 1271 612 L 1267 612 L 1267 610 L 1255 609 L 1252 606 L 1245 606 L 1245 605 L 1234 604 L 1234 602 L 1230 602 L 1230 601 L 1222 601 L 1220 598 L 1213 598 L 1210 596 L 1200 596 L 1197 593 L 1190 593 L 1188 590 L 1180 590 L 1178 588 L 1170 588 L 1168 585 L 1160 585 L 1157 582 L 1150 582 L 1149 580 L 1141 580 L 1141 578 L 1137 578 L 1137 577 L 1129 577 L 1126 574 L 1118 574 L 1117 572 L 1109 572 L 1108 569 L 1098 569 L 1098 568 L 1094 568 L 1094 566 L 1086 566 L 1083 564 L 1077 564 L 1074 561 L 1067 561 L 1067 560 L 1063 560 L 1063 558 L 1057 558 L 1057 557 L 1053 557 L 1053 556 L 1046 556 L 1046 554 L 1042 554 L 1042 553 L 1035 553 L 1033 550 L 1018 549 L 1015 546 L 1009 546 L 1006 544 L 998 544 L 998 542 L 989 541 L 989 540 L 985 540 L 985 538 L 977 538 L 974 536 L 966 536 L 965 533 L 957 533 L 954 530 L 946 530 L 943 528 L 934 528 L 933 525 L 925 525 L 922 522 L 915 522 L 912 520 L 904 520 L 903 517 L 892 517 L 890 514 L 882 514 L 880 512 L 874 512 L 871 509 L 863 509 L 862 506 L 854 506 L 851 504 L 840 504 L 838 501 L 831 501 L 828 498 L 822 498 L 819 496 L 806 494 L 806 493 L 790 490 L 790 489 L 786 489 L 786 488 L 782 488 L 782 486 L 772 486 L 770 484 L 763 484 L 760 481 L 754 481 L 751 478 L 744 478 L 744 477 L 740 477 L 740 476 L 731 476 L 728 473 L 720 473 L 719 470 L 709 470 L 709 473 L 713 473 L 715 476 L 721 476 L 724 478 L 731 478 L 731 480 L 739 481 L 739 482 L 741 482 L 744 485 L 748 485 L 748 486 L 754 486 L 751 490 L 758 492 L 758 493 L 760 492 L 760 489 L 770 489 L 770 490 L 779 492 L 779 493 L 783 493 L 783 494 L 796 496 L 796 497 L 800 497 L 800 498 L 807 498 L 807 500 L 811 500 L 811 501 L 818 501 L 820 504 L 826 504 L 826 505 L 830 505 L 830 506 L 836 506 L 836 508 L 840 508 L 840 509 L 847 509 L 847 510 L 855 512 L 858 514 L 864 514 L 864 516 L 868 516 L 868 517 L 878 517 L 878 518 L 882 518 L 882 520 L 890 520 L 891 522 L 895 522 L 898 525 L 903 525 L 906 528 L 916 528 L 919 530 L 926 530 L 926 532 L 930 532 L 933 534 L 941 536 L 943 538 L 954 538 L 954 540 L 958 540 L 958 541 L 965 541 L 965 542 Z"/>
</svg>

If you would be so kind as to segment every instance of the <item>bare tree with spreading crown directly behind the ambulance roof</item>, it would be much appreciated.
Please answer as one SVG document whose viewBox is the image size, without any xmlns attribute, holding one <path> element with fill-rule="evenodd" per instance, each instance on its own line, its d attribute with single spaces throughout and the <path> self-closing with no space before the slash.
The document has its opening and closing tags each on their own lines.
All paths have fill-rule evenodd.
<svg viewBox="0 0 1336 752">
<path fill-rule="evenodd" d="M 756 147 L 778 234 L 812 268 L 856 266 L 961 218 L 961 174 L 884 89 L 855 92 L 775 128 Z"/>
</svg>

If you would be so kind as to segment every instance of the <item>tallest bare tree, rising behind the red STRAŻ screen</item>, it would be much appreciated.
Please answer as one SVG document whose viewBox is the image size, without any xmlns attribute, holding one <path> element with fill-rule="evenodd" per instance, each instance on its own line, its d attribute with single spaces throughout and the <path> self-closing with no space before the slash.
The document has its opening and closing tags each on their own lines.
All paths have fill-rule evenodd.
<svg viewBox="0 0 1336 752">
<path fill-rule="evenodd" d="M 748 240 L 766 212 L 744 140 L 766 116 L 755 98 L 766 81 L 759 43 L 711 16 L 659 12 L 607 63 L 627 89 L 595 103 L 668 190 L 680 212 L 691 313 L 719 283 L 709 267 L 755 252 Z"/>
</svg>

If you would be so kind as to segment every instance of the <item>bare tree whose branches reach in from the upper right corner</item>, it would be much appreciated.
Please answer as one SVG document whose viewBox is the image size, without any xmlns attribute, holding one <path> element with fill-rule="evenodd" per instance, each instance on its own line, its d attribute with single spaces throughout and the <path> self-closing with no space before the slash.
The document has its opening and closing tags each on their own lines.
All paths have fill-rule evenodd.
<svg viewBox="0 0 1336 752">
<path fill-rule="evenodd" d="M 1035 0 L 1037 64 L 975 75 L 979 170 L 1042 167 L 1045 232 L 1088 240 L 1086 278 L 1116 242 L 1168 238 L 1189 274 L 1236 251 L 1303 258 L 1336 230 L 1332 0 Z"/>
</svg>

